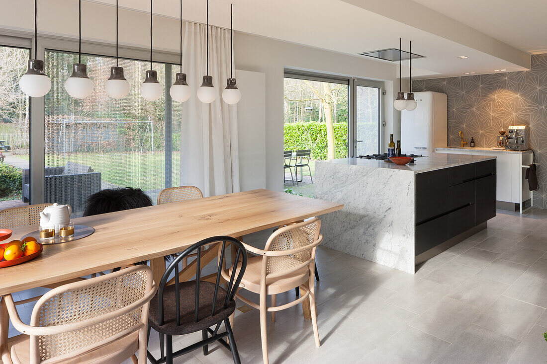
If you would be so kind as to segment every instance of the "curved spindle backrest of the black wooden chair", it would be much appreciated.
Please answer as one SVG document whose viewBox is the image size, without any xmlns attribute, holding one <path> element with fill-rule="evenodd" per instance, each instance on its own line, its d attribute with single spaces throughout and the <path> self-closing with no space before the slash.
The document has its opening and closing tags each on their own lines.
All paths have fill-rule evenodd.
<svg viewBox="0 0 547 364">
<path fill-rule="evenodd" d="M 224 300 L 224 306 L 223 308 L 226 308 L 228 306 L 228 303 L 234 300 L 234 296 L 236 294 L 237 288 L 239 287 L 241 283 L 241 279 L 243 278 L 243 273 L 245 273 L 245 269 L 247 268 L 247 250 L 243 246 L 243 244 L 232 237 L 229 236 L 215 236 L 207 239 L 201 240 L 201 242 L 197 242 L 194 245 L 190 246 L 186 250 L 184 250 L 181 254 L 177 256 L 175 260 L 171 262 L 171 264 L 167 267 L 163 277 L 161 277 L 161 281 L 158 287 L 158 322 L 159 325 L 164 324 L 164 290 L 167 285 L 168 279 L 171 275 L 171 273 L 174 271 L 174 292 L 175 292 L 175 305 L 176 305 L 176 316 L 177 316 L 177 325 L 181 325 L 181 303 L 180 303 L 180 297 L 179 297 L 179 263 L 182 262 L 182 260 L 185 257 L 188 257 L 188 255 L 196 253 L 196 280 L 195 280 L 195 286 L 196 286 L 196 292 L 195 292 L 195 322 L 199 321 L 199 307 L 200 307 L 200 279 L 201 279 L 201 248 L 205 245 L 210 244 L 220 244 L 220 256 L 218 259 L 218 269 L 217 269 L 217 280 L 214 286 L 214 297 L 212 301 L 212 309 L 211 309 L 211 316 L 214 316 L 215 312 L 215 306 L 217 303 L 217 297 L 218 297 L 218 290 L 220 286 L 220 279 L 221 275 L 220 272 L 222 269 L 224 269 L 224 257 L 225 257 L 225 251 L 226 251 L 226 243 L 234 244 L 236 247 L 236 255 L 235 257 L 232 256 L 232 264 L 234 265 L 234 269 L 232 270 L 232 274 L 230 276 L 230 281 L 227 283 L 226 287 L 226 298 Z M 233 252 L 234 250 L 232 250 Z M 240 261 L 241 258 L 241 261 Z M 241 265 L 240 269 L 236 269 L 236 266 Z"/>
</svg>

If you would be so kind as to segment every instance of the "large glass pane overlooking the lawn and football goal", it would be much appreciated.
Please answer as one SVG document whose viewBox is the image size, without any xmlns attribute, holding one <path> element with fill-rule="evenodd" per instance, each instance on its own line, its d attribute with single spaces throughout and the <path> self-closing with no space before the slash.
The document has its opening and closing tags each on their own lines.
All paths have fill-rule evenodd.
<svg viewBox="0 0 547 364">
<path fill-rule="evenodd" d="M 82 55 L 93 93 L 82 100 L 65 90 L 78 55 L 46 50 L 46 73 L 53 86 L 45 97 L 45 202 L 68 203 L 75 215 L 102 189 L 138 187 L 155 202 L 165 187 L 179 184 L 181 110 L 168 99 L 172 65 L 155 62 L 165 97 L 156 102 L 139 95 L 149 62 L 120 59 L 131 92 L 114 100 L 104 91 L 115 58 Z M 167 148 L 166 148 L 167 146 Z"/>
</svg>

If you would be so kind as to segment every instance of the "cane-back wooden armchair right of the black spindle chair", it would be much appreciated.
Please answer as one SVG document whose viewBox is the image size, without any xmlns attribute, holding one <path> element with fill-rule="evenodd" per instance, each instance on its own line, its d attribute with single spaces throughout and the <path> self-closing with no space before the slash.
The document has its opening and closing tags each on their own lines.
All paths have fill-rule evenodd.
<svg viewBox="0 0 547 364">
<path fill-rule="evenodd" d="M 247 271 L 241 280 L 240 289 L 259 294 L 259 304 L 249 301 L 239 293 L 236 297 L 251 307 L 260 310 L 260 334 L 262 339 L 262 356 L 268 363 L 268 347 L 266 336 L 266 316 L 271 312 L 271 320 L 275 321 L 275 313 L 295 306 L 304 300 L 310 300 L 313 336 L 317 347 L 319 331 L 315 306 L 315 287 L 313 273 L 315 271 L 315 251 L 323 241 L 321 220 L 315 218 L 279 228 L 266 242 L 264 250 L 245 245 L 247 251 L 258 256 L 249 258 Z M 234 266 L 228 272 L 232 274 Z M 226 275 L 226 273 L 224 273 Z M 228 279 L 227 275 L 224 277 Z M 300 297 L 293 302 L 276 306 L 278 293 L 300 287 Z M 303 293 L 302 293 L 303 292 Z M 271 295 L 271 307 L 266 306 L 266 296 Z"/>
</svg>

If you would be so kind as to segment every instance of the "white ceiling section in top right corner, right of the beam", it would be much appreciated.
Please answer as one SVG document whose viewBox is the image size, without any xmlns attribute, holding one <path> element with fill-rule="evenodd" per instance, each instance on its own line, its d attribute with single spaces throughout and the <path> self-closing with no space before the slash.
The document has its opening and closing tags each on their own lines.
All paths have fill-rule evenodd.
<svg viewBox="0 0 547 364">
<path fill-rule="evenodd" d="M 547 0 L 413 0 L 517 49 L 547 52 Z"/>
</svg>

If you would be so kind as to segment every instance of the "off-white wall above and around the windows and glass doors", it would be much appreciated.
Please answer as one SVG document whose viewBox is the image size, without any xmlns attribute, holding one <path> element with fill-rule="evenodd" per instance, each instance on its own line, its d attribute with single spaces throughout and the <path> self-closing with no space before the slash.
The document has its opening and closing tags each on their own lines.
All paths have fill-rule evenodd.
<svg viewBox="0 0 547 364">
<path fill-rule="evenodd" d="M 3 2 L 0 12 L 0 28 L 3 33 L 30 36 L 33 30 L 32 0 Z M 177 8 L 178 9 L 178 8 Z M 78 2 L 71 0 L 40 0 L 38 2 L 38 31 L 40 34 L 77 38 Z M 115 42 L 115 8 L 106 5 L 82 3 L 82 37 L 89 42 L 113 44 Z M 178 10 L 177 10 L 178 11 Z M 149 17 L 137 11 L 120 9 L 119 42 L 122 48 L 149 47 Z M 281 25 L 280 25 L 281 26 Z M 75 50 L 73 44 L 71 50 Z M 165 17 L 154 19 L 154 48 L 167 52 L 178 52 L 179 22 Z M 83 51 L 92 51 L 83 45 Z M 112 49 L 112 54 L 114 50 Z M 393 100 L 398 91 L 395 64 L 371 61 L 357 55 L 312 48 L 282 42 L 270 38 L 236 32 L 234 36 L 235 67 L 243 71 L 265 74 L 266 126 L 265 126 L 265 178 L 266 188 L 282 190 L 283 167 L 283 69 L 307 69 L 315 72 L 340 74 L 350 77 L 383 80 L 386 84 L 384 140 L 389 133 L 400 138 L 400 112 L 393 109 Z M 120 50 L 124 55 L 124 50 Z M 158 55 L 161 57 L 162 55 Z M 163 55 L 164 60 L 178 59 L 176 55 Z M 219 85 L 222 82 L 219 81 Z M 243 87 L 240 81 L 238 86 Z M 405 88 L 406 87 L 406 88 Z M 408 91 L 408 86 L 403 86 Z M 252 136 L 247 135 L 248 138 Z M 244 137 L 240 145 L 254 141 Z M 261 136 L 260 136 L 261 138 Z"/>
</svg>

